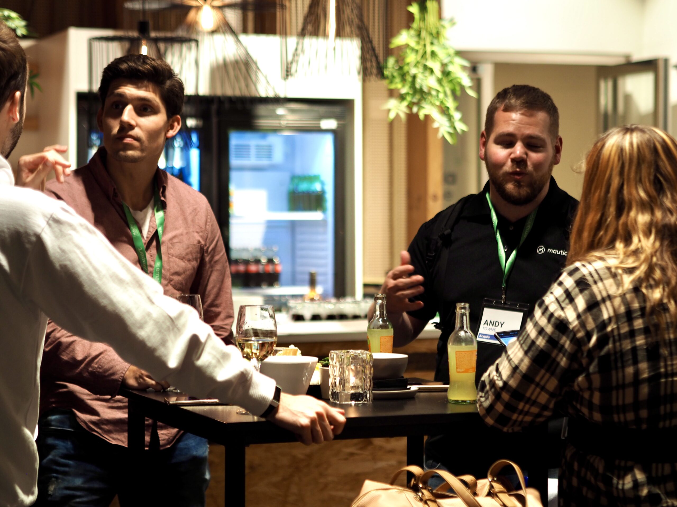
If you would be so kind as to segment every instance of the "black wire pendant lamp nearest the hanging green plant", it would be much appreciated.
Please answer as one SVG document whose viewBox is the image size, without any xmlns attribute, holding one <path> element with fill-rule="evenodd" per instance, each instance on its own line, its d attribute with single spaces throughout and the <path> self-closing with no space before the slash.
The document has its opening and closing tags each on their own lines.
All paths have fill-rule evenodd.
<svg viewBox="0 0 677 507">
<path fill-rule="evenodd" d="M 365 3 L 374 11 L 380 9 L 371 13 L 370 18 L 385 26 L 386 1 Z M 297 4 L 302 2 L 297 0 Z M 383 55 L 383 49 L 380 52 Z M 287 66 L 287 76 L 326 74 L 338 68 L 343 74 L 380 79 L 383 64 L 378 53 L 364 19 L 362 1 L 311 0 Z"/>
</svg>

